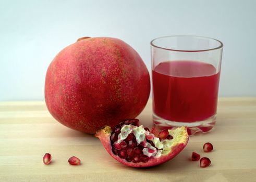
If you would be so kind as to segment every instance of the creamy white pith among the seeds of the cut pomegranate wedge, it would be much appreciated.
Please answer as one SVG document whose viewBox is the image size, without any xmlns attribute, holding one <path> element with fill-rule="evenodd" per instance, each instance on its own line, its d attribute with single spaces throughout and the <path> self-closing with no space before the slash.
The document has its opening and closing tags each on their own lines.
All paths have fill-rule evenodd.
<svg viewBox="0 0 256 182">
<path fill-rule="evenodd" d="M 125 125 L 121 128 L 121 133 L 118 135 L 117 143 L 120 144 L 120 142 L 125 140 L 130 133 L 133 133 L 138 144 L 141 144 L 144 147 L 144 155 L 147 155 L 148 157 L 153 156 L 154 158 L 159 158 L 161 157 L 161 155 L 168 154 L 171 151 L 172 146 L 175 146 L 176 144 L 185 141 L 185 138 L 181 138 L 184 134 L 184 127 L 168 129 L 168 132 L 169 135 L 173 136 L 173 139 L 164 139 L 160 141 L 160 139 L 158 137 L 155 137 L 154 134 L 145 131 L 142 125 Z M 146 139 L 151 140 L 155 147 L 153 147 Z M 151 152 L 149 152 L 149 150 L 151 150 Z"/>
</svg>

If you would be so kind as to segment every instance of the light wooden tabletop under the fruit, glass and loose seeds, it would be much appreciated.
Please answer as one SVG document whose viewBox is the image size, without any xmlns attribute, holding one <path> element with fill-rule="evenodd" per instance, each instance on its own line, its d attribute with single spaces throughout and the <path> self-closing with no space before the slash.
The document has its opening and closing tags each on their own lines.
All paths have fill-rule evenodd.
<svg viewBox="0 0 256 182">
<path fill-rule="evenodd" d="M 152 125 L 152 107 L 138 116 Z M 204 153 L 204 142 L 214 150 Z M 209 157 L 200 168 L 191 152 Z M 53 162 L 44 165 L 45 152 Z M 72 155 L 81 159 L 71 166 Z M 0 102 L 0 181 L 256 181 L 256 98 L 221 98 L 215 130 L 190 137 L 173 160 L 151 168 L 131 168 L 115 161 L 99 139 L 59 124 L 42 101 Z"/>
</svg>

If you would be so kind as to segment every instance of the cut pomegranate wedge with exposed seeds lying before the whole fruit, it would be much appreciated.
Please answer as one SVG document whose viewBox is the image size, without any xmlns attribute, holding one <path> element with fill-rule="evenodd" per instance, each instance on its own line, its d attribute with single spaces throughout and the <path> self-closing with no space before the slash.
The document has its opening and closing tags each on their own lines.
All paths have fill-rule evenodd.
<svg viewBox="0 0 256 182">
<path fill-rule="evenodd" d="M 157 133 L 156 128 L 153 131 Z M 105 126 L 95 136 L 115 160 L 131 167 L 149 167 L 174 158 L 189 139 L 184 126 L 161 132 L 158 133 L 162 139 L 139 126 L 139 120 L 129 119 L 116 125 L 113 131 Z"/>
</svg>

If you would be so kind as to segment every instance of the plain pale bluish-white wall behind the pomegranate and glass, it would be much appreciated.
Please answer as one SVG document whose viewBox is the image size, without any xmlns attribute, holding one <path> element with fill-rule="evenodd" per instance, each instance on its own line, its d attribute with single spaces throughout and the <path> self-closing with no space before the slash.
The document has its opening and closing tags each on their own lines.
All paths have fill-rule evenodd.
<svg viewBox="0 0 256 182">
<path fill-rule="evenodd" d="M 82 36 L 111 36 L 150 66 L 150 41 L 224 43 L 220 96 L 256 96 L 256 1 L 0 1 L 0 100 L 43 100 L 48 64 Z"/>
</svg>

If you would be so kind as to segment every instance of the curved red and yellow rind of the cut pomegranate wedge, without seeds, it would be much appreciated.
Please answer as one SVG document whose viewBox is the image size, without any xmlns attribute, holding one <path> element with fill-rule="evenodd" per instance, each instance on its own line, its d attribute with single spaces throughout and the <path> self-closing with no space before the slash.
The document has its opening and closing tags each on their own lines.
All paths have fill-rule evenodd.
<svg viewBox="0 0 256 182">
<path fill-rule="evenodd" d="M 148 162 L 132 163 L 126 161 L 125 159 L 119 158 L 118 155 L 115 155 L 112 152 L 112 146 L 110 141 L 111 132 L 111 127 L 105 126 L 104 128 L 97 131 L 95 137 L 101 140 L 103 147 L 111 155 L 112 158 L 130 167 L 150 167 L 167 162 L 170 159 L 173 159 L 178 153 L 180 153 L 181 150 L 183 150 L 187 146 L 189 140 L 187 127 L 181 126 L 174 129 L 169 129 L 168 132 L 173 136 L 173 143 L 169 147 L 169 150 L 163 152 L 161 157 L 159 158 L 150 158 Z"/>
</svg>

